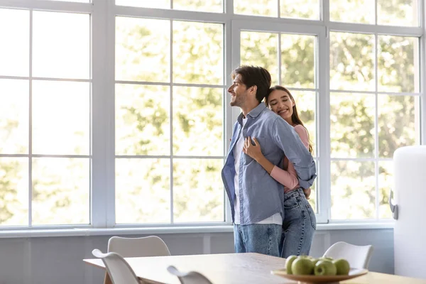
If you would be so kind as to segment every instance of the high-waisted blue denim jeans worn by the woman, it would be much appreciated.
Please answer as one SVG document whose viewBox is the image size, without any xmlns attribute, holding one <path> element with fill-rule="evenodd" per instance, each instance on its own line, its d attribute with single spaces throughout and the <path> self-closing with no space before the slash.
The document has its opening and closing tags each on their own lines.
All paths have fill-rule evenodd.
<svg viewBox="0 0 426 284">
<path fill-rule="evenodd" d="M 317 219 L 303 190 L 292 190 L 284 195 L 283 236 L 281 257 L 309 255 Z"/>
</svg>

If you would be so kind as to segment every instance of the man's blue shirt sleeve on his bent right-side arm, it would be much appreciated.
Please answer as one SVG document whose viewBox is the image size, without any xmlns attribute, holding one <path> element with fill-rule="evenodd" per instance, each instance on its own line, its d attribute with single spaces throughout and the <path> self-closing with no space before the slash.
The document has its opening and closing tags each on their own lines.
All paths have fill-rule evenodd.
<svg viewBox="0 0 426 284">
<path fill-rule="evenodd" d="M 311 153 L 307 151 L 302 138 L 299 137 L 295 128 L 290 126 L 284 119 L 275 119 L 271 125 L 271 136 L 297 173 L 299 185 L 302 188 L 309 188 L 317 178 L 317 168 Z M 289 165 L 290 165 L 289 163 Z M 289 187 L 293 188 L 293 187 Z"/>
</svg>

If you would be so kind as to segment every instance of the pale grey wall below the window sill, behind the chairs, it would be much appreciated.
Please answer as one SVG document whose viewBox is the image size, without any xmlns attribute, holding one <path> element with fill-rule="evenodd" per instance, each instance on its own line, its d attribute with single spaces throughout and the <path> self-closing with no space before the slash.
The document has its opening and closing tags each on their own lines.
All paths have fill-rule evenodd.
<svg viewBox="0 0 426 284">
<path fill-rule="evenodd" d="M 132 235 L 133 237 L 136 235 Z M 231 233 L 163 234 L 173 255 L 231 253 Z M 107 251 L 109 236 L 43 237 L 0 239 L 0 284 L 102 284 L 100 268 L 84 264 L 92 249 Z M 393 229 L 317 231 L 311 255 L 321 256 L 336 241 L 373 244 L 369 269 L 393 273 Z"/>
</svg>

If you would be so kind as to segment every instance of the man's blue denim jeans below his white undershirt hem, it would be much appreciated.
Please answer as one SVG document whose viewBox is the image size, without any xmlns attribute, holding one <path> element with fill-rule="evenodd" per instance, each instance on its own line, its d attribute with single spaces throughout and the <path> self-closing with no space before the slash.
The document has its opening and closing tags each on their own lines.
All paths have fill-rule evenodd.
<svg viewBox="0 0 426 284">
<path fill-rule="evenodd" d="M 234 224 L 236 253 L 263 253 L 280 256 L 283 227 L 277 224 Z"/>
</svg>

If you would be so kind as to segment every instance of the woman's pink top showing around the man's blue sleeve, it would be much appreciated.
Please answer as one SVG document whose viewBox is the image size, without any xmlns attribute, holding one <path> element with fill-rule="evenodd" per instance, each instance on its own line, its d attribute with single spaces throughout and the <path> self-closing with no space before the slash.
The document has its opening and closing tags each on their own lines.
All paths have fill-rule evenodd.
<svg viewBox="0 0 426 284">
<path fill-rule="evenodd" d="M 309 147 L 309 138 L 307 136 L 307 130 L 300 124 L 295 126 L 295 131 L 300 136 L 300 140 L 306 148 Z M 284 185 L 284 192 L 295 190 L 299 188 L 299 180 L 297 179 L 297 173 L 293 164 L 288 161 L 287 157 L 284 157 L 283 168 L 279 168 L 276 165 L 271 171 L 271 177 Z"/>
</svg>

